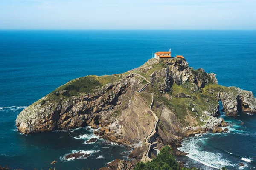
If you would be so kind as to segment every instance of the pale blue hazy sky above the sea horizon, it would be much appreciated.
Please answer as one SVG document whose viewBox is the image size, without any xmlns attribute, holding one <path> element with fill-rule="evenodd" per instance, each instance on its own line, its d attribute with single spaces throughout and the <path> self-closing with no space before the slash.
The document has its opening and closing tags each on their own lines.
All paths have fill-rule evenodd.
<svg viewBox="0 0 256 170">
<path fill-rule="evenodd" d="M 256 0 L 0 0 L 0 29 L 256 29 Z"/>
</svg>

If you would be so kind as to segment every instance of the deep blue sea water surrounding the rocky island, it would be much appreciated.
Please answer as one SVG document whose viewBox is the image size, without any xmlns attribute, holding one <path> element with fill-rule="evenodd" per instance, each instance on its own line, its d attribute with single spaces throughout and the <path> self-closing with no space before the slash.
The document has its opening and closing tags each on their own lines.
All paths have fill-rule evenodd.
<svg viewBox="0 0 256 170">
<path fill-rule="evenodd" d="M 84 144 L 92 130 L 25 136 L 16 131 L 15 119 L 23 106 L 71 79 L 122 73 L 169 48 L 172 56 L 183 55 L 190 67 L 216 73 L 219 84 L 256 94 L 256 31 L 0 31 L 0 164 L 32 170 L 49 167 L 58 159 L 58 167 L 69 170 L 99 168 L 114 158 L 125 159 L 121 153 L 129 148 L 104 141 Z M 246 164 L 244 169 L 255 168 L 256 116 L 221 116 L 230 122 L 230 133 L 186 139 L 183 149 L 190 154 L 180 159 L 202 169 L 227 165 L 236 170 L 240 162 Z M 62 161 L 62 156 L 75 150 L 92 156 Z"/>
</svg>

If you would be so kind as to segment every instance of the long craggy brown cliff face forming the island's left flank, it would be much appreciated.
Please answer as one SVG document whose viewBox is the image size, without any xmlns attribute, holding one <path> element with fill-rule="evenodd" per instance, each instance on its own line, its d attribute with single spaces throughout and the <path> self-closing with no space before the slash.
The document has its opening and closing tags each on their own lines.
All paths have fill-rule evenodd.
<svg viewBox="0 0 256 170">
<path fill-rule="evenodd" d="M 143 84 L 142 80 L 136 79 L 133 74 L 114 75 L 114 82 L 102 87 L 99 87 L 100 83 L 96 78 L 96 76 L 84 77 L 90 79 L 88 81 L 92 84 L 96 84 L 87 92 L 79 93 L 75 90 L 77 95 L 69 96 L 73 91 L 70 87 L 76 89 L 73 87 L 74 84 L 80 85 L 84 81 L 84 79 L 75 79 L 25 108 L 16 119 L 20 132 L 70 129 L 90 123 L 111 124 L 116 121 L 116 115 L 119 113 L 116 106 L 128 102 L 135 89 Z M 107 78 L 107 76 L 102 77 L 101 81 L 105 83 Z"/>
</svg>

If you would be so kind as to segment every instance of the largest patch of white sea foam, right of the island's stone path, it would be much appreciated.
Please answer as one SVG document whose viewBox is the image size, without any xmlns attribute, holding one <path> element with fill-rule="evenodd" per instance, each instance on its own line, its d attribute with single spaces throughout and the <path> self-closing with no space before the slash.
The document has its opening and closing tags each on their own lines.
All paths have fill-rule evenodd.
<svg viewBox="0 0 256 170">
<path fill-rule="evenodd" d="M 182 142 L 182 147 L 178 150 L 189 153 L 187 157 L 198 161 L 206 166 L 219 169 L 222 166 L 236 166 L 230 164 L 227 159 L 225 159 L 221 153 L 212 153 L 200 150 L 200 140 L 195 140 L 194 138 L 187 138 Z"/>
</svg>

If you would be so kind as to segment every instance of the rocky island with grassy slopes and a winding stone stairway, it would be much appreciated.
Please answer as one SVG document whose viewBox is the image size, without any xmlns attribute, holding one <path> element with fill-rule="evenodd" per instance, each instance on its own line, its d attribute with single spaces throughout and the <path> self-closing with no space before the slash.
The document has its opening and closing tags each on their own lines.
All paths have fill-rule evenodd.
<svg viewBox="0 0 256 170">
<path fill-rule="evenodd" d="M 25 108 L 16 125 L 25 134 L 100 128 L 95 134 L 111 142 L 139 143 L 129 156 L 147 161 L 165 145 L 186 154 L 175 150 L 185 136 L 228 130 L 218 118 L 220 101 L 227 116 L 256 113 L 252 92 L 218 85 L 215 74 L 194 70 L 184 58 L 152 58 L 122 74 L 67 82 Z M 118 162 L 117 167 L 135 164 Z"/>
</svg>

